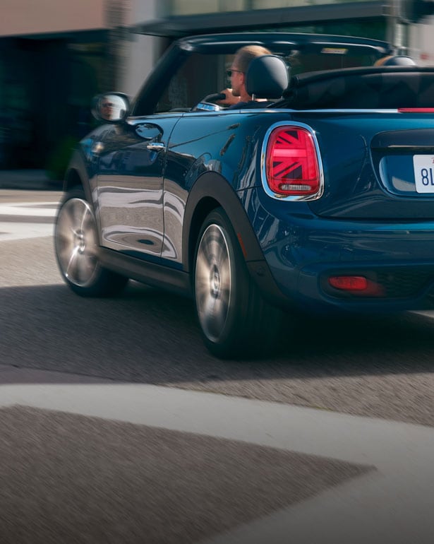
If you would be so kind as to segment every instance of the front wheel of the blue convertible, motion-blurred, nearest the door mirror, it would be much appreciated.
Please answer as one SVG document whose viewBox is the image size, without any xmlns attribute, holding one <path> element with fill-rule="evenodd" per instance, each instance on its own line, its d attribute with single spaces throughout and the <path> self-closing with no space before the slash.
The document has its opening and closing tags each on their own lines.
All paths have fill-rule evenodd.
<svg viewBox="0 0 434 544">
<path fill-rule="evenodd" d="M 83 189 L 69 191 L 57 213 L 54 249 L 66 284 L 82 297 L 117 295 L 128 281 L 101 266 L 98 243 L 95 215 Z"/>
</svg>

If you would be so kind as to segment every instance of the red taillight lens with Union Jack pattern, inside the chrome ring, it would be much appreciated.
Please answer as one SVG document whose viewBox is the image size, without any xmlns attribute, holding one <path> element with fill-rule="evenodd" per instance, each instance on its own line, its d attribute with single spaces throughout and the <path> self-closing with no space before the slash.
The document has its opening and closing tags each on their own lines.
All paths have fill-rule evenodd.
<svg viewBox="0 0 434 544">
<path fill-rule="evenodd" d="M 312 134 L 300 126 L 279 126 L 267 145 L 267 183 L 282 196 L 320 190 L 320 167 Z"/>
</svg>

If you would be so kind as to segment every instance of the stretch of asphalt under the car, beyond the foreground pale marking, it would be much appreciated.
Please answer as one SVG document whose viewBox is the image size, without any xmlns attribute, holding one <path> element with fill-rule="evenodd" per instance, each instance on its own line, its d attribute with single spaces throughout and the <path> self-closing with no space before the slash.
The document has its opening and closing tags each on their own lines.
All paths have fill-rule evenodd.
<svg viewBox="0 0 434 544">
<path fill-rule="evenodd" d="M 60 195 L 1 193 L 42 211 Z M 135 282 L 115 299 L 83 299 L 62 282 L 51 237 L 0 243 L 4 365 L 434 425 L 434 314 L 301 321 L 277 357 L 221 361 L 202 344 L 191 300 Z"/>
</svg>

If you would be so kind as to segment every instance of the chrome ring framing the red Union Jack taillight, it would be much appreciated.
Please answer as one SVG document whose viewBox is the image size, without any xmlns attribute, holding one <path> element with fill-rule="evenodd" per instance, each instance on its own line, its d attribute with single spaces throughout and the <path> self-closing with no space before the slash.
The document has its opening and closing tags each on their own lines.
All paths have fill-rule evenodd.
<svg viewBox="0 0 434 544">
<path fill-rule="evenodd" d="M 279 128 L 283 129 L 284 127 L 287 127 L 288 129 L 302 129 L 303 131 L 307 131 L 309 135 L 311 136 L 311 141 L 315 148 L 316 158 L 318 162 L 318 176 L 319 176 L 318 190 L 315 191 L 315 193 L 313 194 L 295 194 L 295 195 L 279 194 L 273 191 L 267 182 L 267 147 L 270 141 L 270 136 L 276 129 L 279 129 Z M 267 193 L 268 196 L 271 196 L 273 199 L 284 200 L 284 201 L 311 201 L 311 200 L 317 200 L 320 198 L 320 196 L 323 195 L 324 172 L 323 172 L 323 162 L 321 161 L 320 148 L 318 146 L 318 140 L 315 136 L 315 132 L 313 131 L 311 126 L 308 126 L 307 124 L 299 123 L 299 122 L 279 122 L 279 123 L 272 124 L 270 128 L 267 130 L 264 141 L 263 141 L 263 146 L 261 149 L 261 156 L 260 156 L 260 168 L 261 168 L 261 179 L 262 179 L 264 191 L 265 193 Z"/>
</svg>

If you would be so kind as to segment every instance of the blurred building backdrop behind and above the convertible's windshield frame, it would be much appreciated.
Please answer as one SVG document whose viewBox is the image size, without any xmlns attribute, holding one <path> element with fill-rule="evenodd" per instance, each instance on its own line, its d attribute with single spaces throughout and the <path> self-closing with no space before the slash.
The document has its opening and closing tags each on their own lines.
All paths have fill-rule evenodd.
<svg viewBox="0 0 434 544">
<path fill-rule="evenodd" d="M 407 0 L 1 0 L 0 168 L 61 173 L 73 143 L 93 126 L 92 96 L 133 97 L 176 37 L 288 30 L 405 49 L 411 25 L 397 1 Z"/>
</svg>

